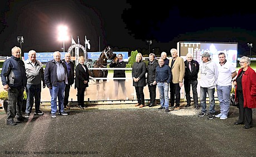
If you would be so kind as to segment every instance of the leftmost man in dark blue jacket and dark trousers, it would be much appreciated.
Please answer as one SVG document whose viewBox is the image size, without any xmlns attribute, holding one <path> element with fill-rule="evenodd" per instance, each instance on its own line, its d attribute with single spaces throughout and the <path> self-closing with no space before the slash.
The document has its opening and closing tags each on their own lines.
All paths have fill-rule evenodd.
<svg viewBox="0 0 256 157">
<path fill-rule="evenodd" d="M 12 57 L 3 63 L 1 79 L 4 90 L 8 92 L 7 125 L 16 125 L 24 121 L 22 117 L 23 92 L 27 84 L 24 62 L 21 60 L 21 48 L 12 48 Z M 16 121 L 13 118 L 17 118 Z"/>
</svg>

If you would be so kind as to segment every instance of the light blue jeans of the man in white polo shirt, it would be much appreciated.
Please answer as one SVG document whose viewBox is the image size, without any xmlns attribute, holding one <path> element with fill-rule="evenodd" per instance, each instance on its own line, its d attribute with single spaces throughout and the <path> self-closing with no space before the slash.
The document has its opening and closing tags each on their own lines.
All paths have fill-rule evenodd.
<svg viewBox="0 0 256 157">
<path fill-rule="evenodd" d="M 231 85 L 220 86 L 217 85 L 217 94 L 220 102 L 220 113 L 228 116 L 229 105 L 230 105 L 230 92 Z"/>
</svg>

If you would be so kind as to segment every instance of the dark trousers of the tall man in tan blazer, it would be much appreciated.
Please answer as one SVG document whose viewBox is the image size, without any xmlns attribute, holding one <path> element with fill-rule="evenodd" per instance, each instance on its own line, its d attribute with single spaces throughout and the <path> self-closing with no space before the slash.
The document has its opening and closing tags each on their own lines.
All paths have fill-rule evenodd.
<svg viewBox="0 0 256 157">
<path fill-rule="evenodd" d="M 174 107 L 174 102 L 176 107 L 180 106 L 180 84 L 170 82 L 170 104 Z"/>
</svg>

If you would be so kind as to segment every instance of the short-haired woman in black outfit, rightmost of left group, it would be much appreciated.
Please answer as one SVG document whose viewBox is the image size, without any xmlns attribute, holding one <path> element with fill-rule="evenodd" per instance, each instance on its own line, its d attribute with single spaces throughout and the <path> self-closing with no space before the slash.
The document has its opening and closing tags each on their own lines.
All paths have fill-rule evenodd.
<svg viewBox="0 0 256 157">
<path fill-rule="evenodd" d="M 77 102 L 78 107 L 83 109 L 85 106 L 84 100 L 85 100 L 85 88 L 88 87 L 89 82 L 89 70 L 84 65 L 85 58 L 83 56 L 80 56 L 78 58 L 78 65 L 76 66 L 76 79 L 75 79 L 75 89 L 77 88 Z"/>
</svg>

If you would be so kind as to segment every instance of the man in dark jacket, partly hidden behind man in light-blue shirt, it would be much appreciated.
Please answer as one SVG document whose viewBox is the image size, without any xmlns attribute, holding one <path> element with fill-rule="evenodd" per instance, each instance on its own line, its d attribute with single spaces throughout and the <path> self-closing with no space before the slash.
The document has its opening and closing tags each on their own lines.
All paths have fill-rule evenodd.
<svg viewBox="0 0 256 157">
<path fill-rule="evenodd" d="M 70 87 L 74 83 L 75 73 L 74 73 L 74 63 L 71 61 L 71 55 L 70 53 L 65 54 L 65 59 L 63 59 L 63 62 L 66 63 L 67 66 L 67 82 L 64 92 L 64 108 L 67 108 L 68 105 L 68 97 L 70 95 Z"/>
</svg>

